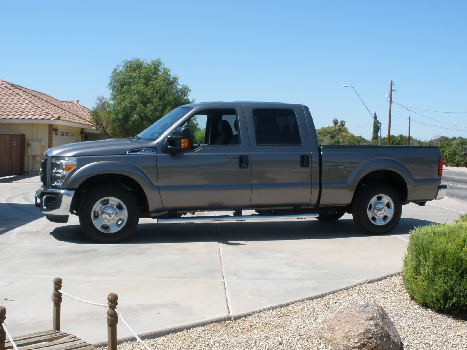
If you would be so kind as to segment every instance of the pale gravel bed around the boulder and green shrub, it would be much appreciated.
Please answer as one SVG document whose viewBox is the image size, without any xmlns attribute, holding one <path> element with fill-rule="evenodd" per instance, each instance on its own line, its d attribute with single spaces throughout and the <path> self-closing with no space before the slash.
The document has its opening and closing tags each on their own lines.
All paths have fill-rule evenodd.
<svg viewBox="0 0 467 350">
<path fill-rule="evenodd" d="M 413 301 L 400 275 L 364 284 L 325 297 L 262 311 L 235 321 L 213 323 L 179 333 L 147 339 L 161 349 L 319 349 L 315 329 L 326 316 L 365 302 L 381 305 L 394 322 L 404 350 L 467 350 L 467 321 L 437 314 Z M 106 349 L 106 348 L 104 348 Z M 118 350 L 145 350 L 138 342 L 118 345 Z"/>
</svg>

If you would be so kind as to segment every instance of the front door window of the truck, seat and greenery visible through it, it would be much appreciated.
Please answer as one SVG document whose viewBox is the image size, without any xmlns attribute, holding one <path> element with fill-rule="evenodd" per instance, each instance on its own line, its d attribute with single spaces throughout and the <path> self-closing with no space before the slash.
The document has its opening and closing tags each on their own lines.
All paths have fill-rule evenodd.
<svg viewBox="0 0 467 350">
<path fill-rule="evenodd" d="M 185 126 L 190 128 L 193 149 L 201 146 L 240 145 L 238 117 L 235 110 L 199 112 Z"/>
</svg>

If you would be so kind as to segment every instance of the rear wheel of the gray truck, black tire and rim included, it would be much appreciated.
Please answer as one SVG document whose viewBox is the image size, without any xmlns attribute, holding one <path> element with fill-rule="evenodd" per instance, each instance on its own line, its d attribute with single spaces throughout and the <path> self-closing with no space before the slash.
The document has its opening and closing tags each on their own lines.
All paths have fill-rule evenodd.
<svg viewBox="0 0 467 350">
<path fill-rule="evenodd" d="M 362 187 L 352 202 L 354 223 L 370 235 L 388 233 L 402 215 L 402 202 L 394 188 L 385 184 Z"/>
</svg>

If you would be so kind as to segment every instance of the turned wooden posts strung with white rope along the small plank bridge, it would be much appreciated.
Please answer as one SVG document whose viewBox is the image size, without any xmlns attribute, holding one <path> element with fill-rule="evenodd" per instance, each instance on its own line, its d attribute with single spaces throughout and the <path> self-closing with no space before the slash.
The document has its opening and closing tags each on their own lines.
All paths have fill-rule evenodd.
<svg viewBox="0 0 467 350">
<path fill-rule="evenodd" d="M 86 304 L 100 306 L 108 308 L 107 310 L 107 348 L 108 350 L 117 350 L 117 323 L 118 319 L 123 322 L 125 326 L 129 329 L 131 334 L 138 340 L 147 350 L 152 350 L 146 343 L 144 343 L 141 338 L 130 328 L 128 323 L 122 317 L 120 312 L 117 310 L 118 305 L 118 295 L 111 293 L 107 296 L 107 304 L 99 304 L 92 301 L 86 301 L 84 299 L 77 298 L 71 294 L 68 294 L 62 290 L 62 279 L 57 277 L 54 279 L 54 286 L 52 292 L 52 302 L 54 304 L 54 312 L 53 312 L 53 330 L 60 331 L 60 308 L 62 303 L 62 295 L 66 295 L 67 297 L 84 302 Z M 7 326 L 5 325 L 5 316 L 6 308 L 0 307 L 0 350 L 5 349 L 5 340 L 6 336 L 10 340 L 10 343 L 14 347 L 14 350 L 18 350 L 18 347 L 14 343 L 10 333 L 8 332 Z"/>
</svg>

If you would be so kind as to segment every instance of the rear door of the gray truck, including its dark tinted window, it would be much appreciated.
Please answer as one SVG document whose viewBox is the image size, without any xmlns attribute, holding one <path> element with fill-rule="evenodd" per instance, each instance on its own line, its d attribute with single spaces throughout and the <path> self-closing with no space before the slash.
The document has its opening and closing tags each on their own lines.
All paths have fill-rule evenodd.
<svg viewBox="0 0 467 350">
<path fill-rule="evenodd" d="M 311 149 L 303 106 L 245 105 L 251 150 L 251 206 L 308 206 Z"/>
</svg>

